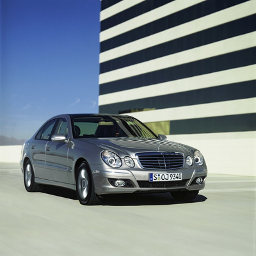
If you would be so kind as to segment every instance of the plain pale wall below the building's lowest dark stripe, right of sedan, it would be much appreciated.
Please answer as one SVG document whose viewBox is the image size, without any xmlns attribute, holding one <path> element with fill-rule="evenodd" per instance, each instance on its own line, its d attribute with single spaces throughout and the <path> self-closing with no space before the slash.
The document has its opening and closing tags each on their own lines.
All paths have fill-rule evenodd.
<svg viewBox="0 0 256 256">
<path fill-rule="evenodd" d="M 168 135 L 202 152 L 209 173 L 256 176 L 256 132 Z"/>
</svg>

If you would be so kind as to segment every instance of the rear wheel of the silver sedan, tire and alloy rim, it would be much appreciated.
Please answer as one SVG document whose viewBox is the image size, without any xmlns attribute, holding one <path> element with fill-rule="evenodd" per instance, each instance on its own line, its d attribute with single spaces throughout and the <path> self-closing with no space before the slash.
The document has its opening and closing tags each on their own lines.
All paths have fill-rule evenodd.
<svg viewBox="0 0 256 256">
<path fill-rule="evenodd" d="M 28 192 L 41 192 L 43 186 L 35 182 L 35 173 L 31 162 L 28 160 L 24 166 L 24 186 Z"/>
</svg>

